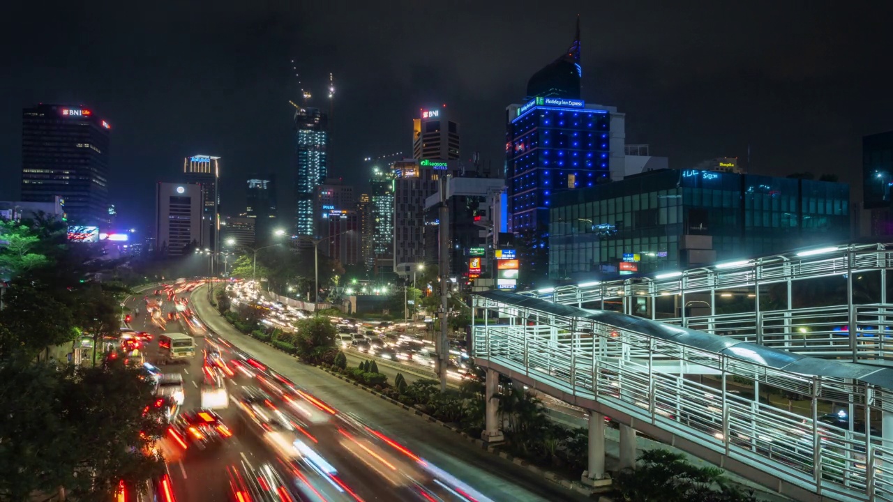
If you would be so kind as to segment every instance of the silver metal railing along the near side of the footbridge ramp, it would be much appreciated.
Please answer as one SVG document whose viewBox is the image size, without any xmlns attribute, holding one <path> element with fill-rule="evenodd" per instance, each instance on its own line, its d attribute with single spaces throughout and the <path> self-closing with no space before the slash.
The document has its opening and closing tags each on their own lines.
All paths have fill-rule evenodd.
<svg viewBox="0 0 893 502">
<path fill-rule="evenodd" d="M 556 397 L 564 393 L 595 400 L 638 423 L 649 423 L 813 493 L 893 502 L 893 469 L 889 467 L 893 441 L 884 444 L 871 427 L 881 414 L 893 412 L 893 394 L 885 389 L 861 381 L 784 372 L 588 318 L 517 308 L 486 297 L 475 297 L 474 303 L 484 312 L 510 316 L 512 322 L 491 325 L 485 317 L 485 325 L 472 328 L 476 360 L 521 372 L 545 384 L 540 390 L 555 389 Z M 873 305 L 860 311 L 860 319 L 874 322 L 873 331 L 865 329 L 865 336 L 860 335 L 872 340 L 865 344 L 866 354 L 883 350 L 886 318 L 878 322 L 883 308 Z M 830 315 L 840 312 L 835 307 Z M 829 309 L 822 313 L 829 315 Z M 812 311 L 784 314 L 791 315 L 770 314 L 763 319 L 764 341 L 776 347 L 805 343 L 817 353 L 836 347 L 837 335 L 827 329 L 835 320 L 823 321 Z M 688 322 L 691 328 L 700 321 Z M 729 336 L 755 341 L 755 333 L 746 332 L 747 319 L 739 314 L 704 322 L 712 322 L 713 330 L 739 331 Z M 818 341 L 811 345 L 812 339 L 791 339 L 788 328 L 792 326 L 814 329 L 811 332 Z M 777 336 L 772 330 L 785 332 L 772 338 Z M 659 363 L 665 360 L 713 369 L 716 378 L 710 381 L 714 385 L 663 371 Z M 740 381 L 753 382 L 752 397 L 730 391 L 730 384 Z M 797 414 L 763 402 L 760 385 L 802 397 L 808 412 Z M 886 399 L 881 398 L 884 394 Z M 853 430 L 857 429 L 855 416 L 848 430 L 822 422 L 820 408 L 828 409 L 829 404 L 846 408 L 851 415 L 861 414 L 858 419 L 864 430 Z"/>
</svg>

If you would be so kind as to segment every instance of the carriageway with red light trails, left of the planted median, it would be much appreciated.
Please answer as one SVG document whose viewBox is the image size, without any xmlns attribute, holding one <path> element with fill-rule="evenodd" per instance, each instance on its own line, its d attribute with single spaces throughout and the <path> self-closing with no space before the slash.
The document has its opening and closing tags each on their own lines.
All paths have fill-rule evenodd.
<svg viewBox="0 0 893 502">
<path fill-rule="evenodd" d="M 142 310 L 133 318 L 131 328 L 153 334 L 145 354 L 154 363 L 162 330 L 147 322 L 146 293 L 153 297 L 152 290 L 143 292 L 129 298 L 127 306 Z M 184 450 L 170 439 L 164 441 L 171 484 L 179 502 L 247 500 L 248 490 L 239 486 L 243 481 L 254 481 L 252 477 L 257 480 L 255 487 L 271 488 L 267 493 L 271 500 L 588 499 L 238 333 L 213 311 L 206 287 L 183 297 L 188 298 L 189 306 L 209 330 L 206 337 L 196 337 L 195 358 L 159 366 L 162 372 L 182 375 L 185 397 L 181 410 L 201 406 L 205 349 L 220 350 L 224 361 L 244 361 L 250 356 L 258 367 L 243 364 L 248 371 L 235 371 L 224 380 L 230 397 L 238 397 L 244 387 L 264 389 L 272 397 L 270 405 L 297 427 L 291 432 L 294 435 L 288 436 L 286 449 L 293 453 L 293 439 L 303 439 L 302 448 L 309 453 L 283 458 L 283 448 L 275 448 L 275 442 L 263 431 L 258 433 L 249 427 L 249 421 L 243 420 L 244 412 L 231 404 L 217 410 L 233 431 L 232 437 L 221 441 L 220 448 Z M 175 307 L 163 299 L 166 316 Z M 167 330 L 186 332 L 179 322 L 169 322 Z M 265 470 L 275 471 L 275 475 L 268 476 Z M 281 489 L 273 486 L 277 482 L 282 483 Z"/>
</svg>

